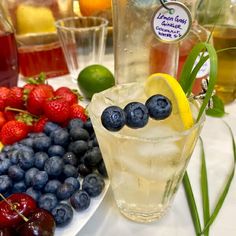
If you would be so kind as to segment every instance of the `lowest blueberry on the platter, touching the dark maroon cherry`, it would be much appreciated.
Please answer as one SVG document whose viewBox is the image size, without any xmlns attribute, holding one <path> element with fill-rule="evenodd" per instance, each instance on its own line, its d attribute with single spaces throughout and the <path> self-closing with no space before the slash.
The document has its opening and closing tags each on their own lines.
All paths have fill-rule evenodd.
<svg viewBox="0 0 236 236">
<path fill-rule="evenodd" d="M 59 203 L 51 213 L 57 226 L 65 226 L 69 224 L 73 218 L 72 208 L 65 203 Z"/>
</svg>

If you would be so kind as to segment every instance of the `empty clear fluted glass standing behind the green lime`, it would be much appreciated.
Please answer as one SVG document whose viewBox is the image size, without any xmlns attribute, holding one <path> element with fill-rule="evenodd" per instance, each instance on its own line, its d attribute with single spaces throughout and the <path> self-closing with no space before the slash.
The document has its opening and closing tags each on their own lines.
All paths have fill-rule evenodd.
<svg viewBox="0 0 236 236">
<path fill-rule="evenodd" d="M 101 64 L 108 21 L 101 17 L 69 17 L 56 22 L 57 33 L 72 76 L 77 82 L 86 66 Z"/>
</svg>

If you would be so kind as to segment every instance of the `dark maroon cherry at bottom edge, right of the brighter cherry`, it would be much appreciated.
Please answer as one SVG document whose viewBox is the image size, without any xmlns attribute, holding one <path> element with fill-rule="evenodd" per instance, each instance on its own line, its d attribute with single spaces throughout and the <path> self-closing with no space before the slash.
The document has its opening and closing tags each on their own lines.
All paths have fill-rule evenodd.
<svg viewBox="0 0 236 236">
<path fill-rule="evenodd" d="M 18 236 L 53 236 L 56 223 L 53 216 L 42 208 L 37 208 L 29 215 L 29 220 L 17 227 Z"/>
</svg>

